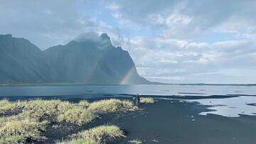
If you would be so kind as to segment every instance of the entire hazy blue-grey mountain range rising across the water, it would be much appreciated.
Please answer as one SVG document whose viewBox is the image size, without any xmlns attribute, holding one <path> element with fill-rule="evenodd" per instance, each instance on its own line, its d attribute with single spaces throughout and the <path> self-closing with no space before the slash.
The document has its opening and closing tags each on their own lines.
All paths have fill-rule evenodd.
<svg viewBox="0 0 256 144">
<path fill-rule="evenodd" d="M 40 50 L 24 38 L 0 35 L 0 82 L 149 84 L 129 53 L 110 37 L 82 35 L 67 45 Z"/>
</svg>

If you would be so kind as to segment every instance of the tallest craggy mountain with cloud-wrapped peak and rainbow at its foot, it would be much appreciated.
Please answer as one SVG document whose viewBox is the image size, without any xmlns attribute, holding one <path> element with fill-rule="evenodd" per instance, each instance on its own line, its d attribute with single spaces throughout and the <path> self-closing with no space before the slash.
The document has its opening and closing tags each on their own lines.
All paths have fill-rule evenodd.
<svg viewBox="0 0 256 144">
<path fill-rule="evenodd" d="M 44 52 L 51 57 L 50 65 L 61 74 L 62 82 L 148 83 L 137 74 L 129 53 L 120 47 L 115 48 L 106 33 L 96 40 L 73 40 L 67 45 L 57 45 Z"/>
</svg>

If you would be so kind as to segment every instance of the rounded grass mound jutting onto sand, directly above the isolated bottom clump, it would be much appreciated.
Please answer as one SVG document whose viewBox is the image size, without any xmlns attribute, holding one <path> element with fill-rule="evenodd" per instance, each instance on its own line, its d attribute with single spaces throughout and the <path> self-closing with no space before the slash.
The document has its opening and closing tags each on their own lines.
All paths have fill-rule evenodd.
<svg viewBox="0 0 256 144">
<path fill-rule="evenodd" d="M 85 109 L 69 109 L 58 116 L 58 121 L 76 123 L 81 126 L 85 123 L 92 122 L 95 118 L 97 118 L 97 115 L 92 113 L 92 111 Z"/>
</svg>

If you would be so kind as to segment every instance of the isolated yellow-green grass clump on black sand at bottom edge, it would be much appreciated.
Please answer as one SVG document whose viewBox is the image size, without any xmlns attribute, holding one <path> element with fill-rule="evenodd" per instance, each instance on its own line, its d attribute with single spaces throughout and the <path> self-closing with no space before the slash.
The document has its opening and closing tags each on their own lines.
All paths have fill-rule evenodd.
<svg viewBox="0 0 256 144">
<path fill-rule="evenodd" d="M 117 138 L 124 137 L 124 132 L 118 126 L 97 126 L 75 135 L 85 140 L 92 139 L 97 143 L 110 143 Z"/>
</svg>

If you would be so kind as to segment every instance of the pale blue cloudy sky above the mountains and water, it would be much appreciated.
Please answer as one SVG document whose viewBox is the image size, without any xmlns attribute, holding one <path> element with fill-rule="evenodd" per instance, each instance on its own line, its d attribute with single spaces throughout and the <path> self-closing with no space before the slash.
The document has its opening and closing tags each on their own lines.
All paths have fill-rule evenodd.
<svg viewBox="0 0 256 144">
<path fill-rule="evenodd" d="M 256 83 L 254 0 L 0 0 L 0 34 L 41 50 L 91 32 L 154 82 Z"/>
</svg>

